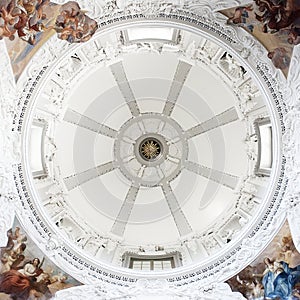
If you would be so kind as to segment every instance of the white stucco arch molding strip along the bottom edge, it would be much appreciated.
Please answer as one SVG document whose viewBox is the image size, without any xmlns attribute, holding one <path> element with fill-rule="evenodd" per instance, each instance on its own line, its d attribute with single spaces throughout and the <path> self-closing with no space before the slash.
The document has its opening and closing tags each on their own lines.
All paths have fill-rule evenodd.
<svg viewBox="0 0 300 300">
<path fill-rule="evenodd" d="M 77 299 L 161 299 L 161 300 L 243 300 L 240 293 L 232 292 L 229 285 L 219 283 L 210 286 L 188 285 L 176 287 L 168 284 L 166 280 L 142 279 L 134 287 L 112 287 L 107 284 L 85 285 L 62 290 L 56 293 L 55 300 Z"/>
</svg>

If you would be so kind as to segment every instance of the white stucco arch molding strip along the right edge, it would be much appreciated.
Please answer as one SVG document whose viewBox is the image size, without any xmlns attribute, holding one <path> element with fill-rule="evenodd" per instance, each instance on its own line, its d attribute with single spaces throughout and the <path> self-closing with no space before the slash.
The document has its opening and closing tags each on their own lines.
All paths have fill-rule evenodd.
<svg viewBox="0 0 300 300">
<path fill-rule="evenodd" d="M 288 113 L 285 116 L 286 132 L 283 137 L 287 159 L 288 188 L 285 206 L 293 241 L 300 251 L 300 46 L 293 51 L 285 98 Z"/>
</svg>

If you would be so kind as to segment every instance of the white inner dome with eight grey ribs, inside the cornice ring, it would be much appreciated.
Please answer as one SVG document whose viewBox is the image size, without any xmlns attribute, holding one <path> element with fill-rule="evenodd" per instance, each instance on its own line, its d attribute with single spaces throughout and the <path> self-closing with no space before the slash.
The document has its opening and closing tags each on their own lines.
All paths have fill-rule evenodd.
<svg viewBox="0 0 300 300">
<path fill-rule="evenodd" d="M 118 30 L 65 56 L 37 96 L 28 133 L 28 151 L 36 153 L 34 120 L 47 123 L 50 178 L 43 188 L 34 183 L 44 212 L 100 260 L 108 259 L 101 243 L 118 253 L 191 248 L 192 260 L 203 259 L 251 220 L 268 186 L 268 178 L 255 178 L 254 122 L 269 113 L 250 74 L 202 36 L 176 30 L 164 42 L 161 34 L 174 28 L 154 28 L 153 41 L 118 45 L 128 35 Z M 96 45 L 105 54 L 84 68 Z M 63 110 L 53 123 L 55 93 Z M 55 183 L 61 206 L 48 197 Z M 100 249 L 90 245 L 95 239 Z"/>
</svg>

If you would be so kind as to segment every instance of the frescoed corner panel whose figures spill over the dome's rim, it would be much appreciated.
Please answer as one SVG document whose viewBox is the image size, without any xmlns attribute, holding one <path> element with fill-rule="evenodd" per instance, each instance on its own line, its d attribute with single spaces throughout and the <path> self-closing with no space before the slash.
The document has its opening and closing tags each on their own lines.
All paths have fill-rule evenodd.
<svg viewBox="0 0 300 300">
<path fill-rule="evenodd" d="M 76 1 L 0 0 L 0 39 L 4 39 L 16 80 L 39 48 L 56 33 L 68 43 L 82 43 L 98 24 Z"/>
</svg>

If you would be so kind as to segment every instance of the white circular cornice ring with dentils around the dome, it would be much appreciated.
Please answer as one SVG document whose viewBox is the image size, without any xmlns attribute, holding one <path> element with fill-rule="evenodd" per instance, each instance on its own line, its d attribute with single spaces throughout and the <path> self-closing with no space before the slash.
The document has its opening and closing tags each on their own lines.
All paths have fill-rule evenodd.
<svg viewBox="0 0 300 300">
<path fill-rule="evenodd" d="M 28 160 L 26 159 L 28 157 L 26 138 L 32 119 L 30 112 L 35 105 L 35 97 L 43 82 L 47 79 L 51 68 L 54 68 L 67 53 L 82 47 L 82 45 L 65 46 L 61 41 L 50 39 L 40 50 L 48 51 L 47 58 L 39 63 L 37 58 L 33 59 L 18 82 L 18 88 L 23 92 L 19 102 L 19 111 L 15 118 L 15 127 L 22 134 L 22 151 L 25 157 L 24 161 L 15 169 L 15 183 L 20 197 L 19 215 L 27 216 L 26 219 L 23 218 L 23 221 L 21 221 L 22 225 L 30 235 L 36 237 L 41 250 L 62 269 L 72 270 L 74 277 L 83 283 L 106 281 L 119 285 L 130 285 L 138 278 L 154 277 L 166 278 L 176 285 L 191 282 L 204 284 L 212 281 L 224 281 L 244 268 L 263 250 L 285 219 L 281 207 L 287 185 L 285 158 L 281 152 L 281 136 L 285 130 L 283 117 L 286 114 L 281 90 L 285 86 L 285 79 L 268 61 L 266 50 L 247 32 L 240 28 L 224 27 L 216 20 L 208 20 L 205 17 L 185 11 L 175 10 L 168 14 L 160 12 L 151 17 L 147 16 L 147 18 L 143 14 L 120 14 L 104 20 L 100 24 L 100 31 L 97 35 L 102 34 L 102 32 L 120 29 L 123 26 L 142 24 L 149 26 L 158 23 L 205 35 L 215 43 L 230 50 L 235 58 L 247 67 L 264 95 L 271 112 L 271 122 L 274 128 L 274 155 L 276 157 L 271 174 L 272 184 L 264 200 L 264 206 L 257 214 L 256 219 L 247 226 L 247 232 L 243 232 L 242 240 L 233 243 L 230 247 L 225 247 L 217 255 L 211 256 L 201 264 L 193 264 L 159 274 L 149 274 L 114 267 L 87 257 L 79 249 L 74 248 L 68 241 L 64 240 L 62 235 L 55 231 L 53 224 L 47 221 L 38 203 Z M 51 51 L 51 49 L 55 49 L 55 45 L 57 46 L 56 49 L 60 47 L 68 49 L 60 57 L 59 54 Z M 262 56 L 262 53 L 265 55 Z M 36 57 L 40 57 L 39 53 Z"/>
</svg>

